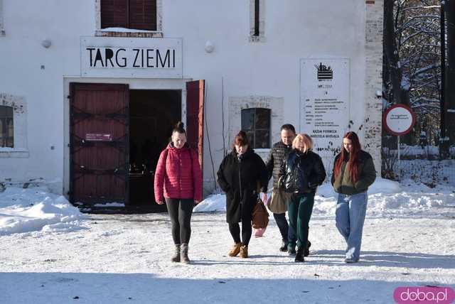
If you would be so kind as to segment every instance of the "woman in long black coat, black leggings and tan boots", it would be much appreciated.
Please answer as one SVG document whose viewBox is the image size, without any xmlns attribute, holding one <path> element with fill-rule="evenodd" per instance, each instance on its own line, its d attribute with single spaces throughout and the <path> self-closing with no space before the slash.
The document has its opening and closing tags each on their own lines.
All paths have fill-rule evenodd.
<svg viewBox="0 0 455 304">
<path fill-rule="evenodd" d="M 263 197 L 267 192 L 268 175 L 264 161 L 250 147 L 244 131 L 235 136 L 234 148 L 221 162 L 217 175 L 218 185 L 226 192 L 226 221 L 235 241 L 229 256 L 240 254 L 247 258 L 253 208 L 259 189 L 264 192 Z M 242 222 L 242 239 L 239 222 Z"/>
</svg>

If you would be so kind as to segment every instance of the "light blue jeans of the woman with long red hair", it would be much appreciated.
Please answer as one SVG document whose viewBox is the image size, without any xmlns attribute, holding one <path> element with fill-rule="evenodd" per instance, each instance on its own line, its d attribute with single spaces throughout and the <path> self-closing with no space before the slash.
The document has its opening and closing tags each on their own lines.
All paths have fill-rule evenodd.
<svg viewBox="0 0 455 304">
<path fill-rule="evenodd" d="M 338 194 L 336 228 L 346 240 L 346 259 L 358 261 L 362 244 L 363 223 L 367 210 L 367 192 L 355 195 Z"/>
</svg>

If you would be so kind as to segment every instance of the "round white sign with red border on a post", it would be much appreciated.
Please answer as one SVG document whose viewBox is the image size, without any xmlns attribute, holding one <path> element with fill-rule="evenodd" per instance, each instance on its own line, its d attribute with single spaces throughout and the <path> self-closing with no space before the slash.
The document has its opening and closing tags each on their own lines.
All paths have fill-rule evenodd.
<svg viewBox="0 0 455 304">
<path fill-rule="evenodd" d="M 410 133 L 415 124 L 415 114 L 405 104 L 395 104 L 385 111 L 383 123 L 390 134 L 405 135 Z"/>
</svg>

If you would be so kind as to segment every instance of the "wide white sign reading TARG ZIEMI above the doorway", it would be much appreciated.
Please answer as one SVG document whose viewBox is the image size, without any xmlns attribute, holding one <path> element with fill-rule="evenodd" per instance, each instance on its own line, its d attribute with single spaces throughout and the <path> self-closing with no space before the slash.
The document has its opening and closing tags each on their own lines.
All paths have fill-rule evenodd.
<svg viewBox="0 0 455 304">
<path fill-rule="evenodd" d="M 80 38 L 82 77 L 181 78 L 177 38 Z"/>
</svg>

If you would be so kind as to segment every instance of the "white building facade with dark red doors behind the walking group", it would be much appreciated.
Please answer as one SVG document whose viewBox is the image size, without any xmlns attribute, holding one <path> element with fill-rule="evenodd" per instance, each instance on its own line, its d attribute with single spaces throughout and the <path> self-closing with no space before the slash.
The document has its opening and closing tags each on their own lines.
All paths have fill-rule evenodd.
<svg viewBox="0 0 455 304">
<path fill-rule="evenodd" d="M 357 132 L 380 172 L 382 9 L 383 0 L 0 0 L 0 181 L 44 180 L 71 197 L 109 172 L 139 176 L 180 119 L 196 143 L 202 136 L 205 193 L 237 131 L 267 158 L 287 123 L 313 136 L 328 170 L 343 134 Z M 203 116 L 187 113 L 195 80 L 205 80 Z M 90 106 L 111 98 L 126 112 Z M 90 170 L 89 156 L 75 156 L 88 142 Z M 126 160 L 108 168 L 106 153 Z M 76 185 L 84 172 L 92 179 Z M 90 195 L 107 200 L 100 193 Z"/>
</svg>

